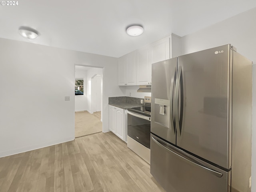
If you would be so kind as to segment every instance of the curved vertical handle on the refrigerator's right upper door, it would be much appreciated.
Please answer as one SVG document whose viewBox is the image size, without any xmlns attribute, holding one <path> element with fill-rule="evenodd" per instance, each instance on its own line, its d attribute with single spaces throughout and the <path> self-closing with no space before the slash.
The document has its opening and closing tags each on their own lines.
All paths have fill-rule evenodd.
<svg viewBox="0 0 256 192">
<path fill-rule="evenodd" d="M 179 95 L 179 88 L 180 88 L 180 95 Z M 175 122 L 177 129 L 181 135 L 182 129 L 182 119 L 183 119 L 183 77 L 182 77 L 182 68 L 181 66 L 178 67 L 177 72 L 177 80 L 175 85 L 175 96 L 174 96 L 174 114 L 175 114 Z M 180 96 L 180 114 L 179 114 L 179 96 Z"/>
</svg>

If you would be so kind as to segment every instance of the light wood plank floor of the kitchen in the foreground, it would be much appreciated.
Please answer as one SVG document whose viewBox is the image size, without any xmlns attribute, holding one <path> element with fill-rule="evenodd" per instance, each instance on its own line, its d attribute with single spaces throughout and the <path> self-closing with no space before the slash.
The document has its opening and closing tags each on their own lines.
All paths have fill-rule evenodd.
<svg viewBox="0 0 256 192">
<path fill-rule="evenodd" d="M 0 158 L 1 192 L 164 192 L 112 132 Z"/>
</svg>

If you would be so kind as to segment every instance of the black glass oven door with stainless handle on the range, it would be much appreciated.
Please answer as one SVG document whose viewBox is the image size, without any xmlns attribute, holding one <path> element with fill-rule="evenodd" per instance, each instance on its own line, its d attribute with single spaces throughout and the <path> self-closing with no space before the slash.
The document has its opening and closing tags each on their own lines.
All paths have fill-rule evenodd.
<svg viewBox="0 0 256 192">
<path fill-rule="evenodd" d="M 150 149 L 150 117 L 128 111 L 128 136 Z"/>
</svg>

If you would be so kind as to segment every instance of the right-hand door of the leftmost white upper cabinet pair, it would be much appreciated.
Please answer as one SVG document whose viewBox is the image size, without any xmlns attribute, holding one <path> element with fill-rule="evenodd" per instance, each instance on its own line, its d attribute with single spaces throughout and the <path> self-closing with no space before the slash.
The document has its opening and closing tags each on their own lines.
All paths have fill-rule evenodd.
<svg viewBox="0 0 256 192">
<path fill-rule="evenodd" d="M 136 85 L 137 81 L 137 58 L 136 52 L 131 52 L 130 54 L 126 55 L 127 63 L 126 63 L 126 85 Z"/>
</svg>

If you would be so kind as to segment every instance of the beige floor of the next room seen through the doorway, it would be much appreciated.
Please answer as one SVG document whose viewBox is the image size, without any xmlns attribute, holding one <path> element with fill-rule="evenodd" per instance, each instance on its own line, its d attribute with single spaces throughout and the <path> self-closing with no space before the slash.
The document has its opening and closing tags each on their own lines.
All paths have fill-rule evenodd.
<svg viewBox="0 0 256 192">
<path fill-rule="evenodd" d="M 100 111 L 90 114 L 87 111 L 75 112 L 75 137 L 102 132 Z"/>
</svg>

